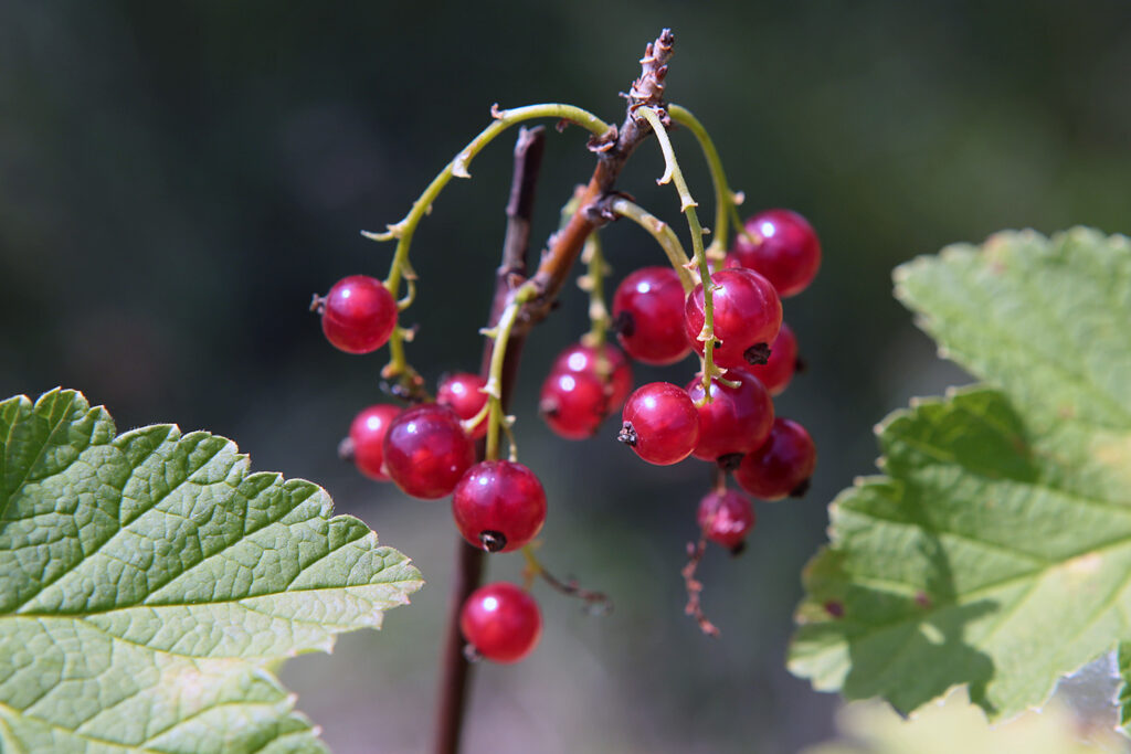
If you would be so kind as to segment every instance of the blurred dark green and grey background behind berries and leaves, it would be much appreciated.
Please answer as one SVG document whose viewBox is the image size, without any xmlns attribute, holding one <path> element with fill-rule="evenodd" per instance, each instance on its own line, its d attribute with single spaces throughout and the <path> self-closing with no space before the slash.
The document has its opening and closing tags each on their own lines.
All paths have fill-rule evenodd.
<svg viewBox="0 0 1131 754">
<path fill-rule="evenodd" d="M 527 346 L 517 430 L 551 500 L 543 560 L 616 607 L 595 618 L 539 589 L 543 642 L 477 671 L 467 751 L 795 752 L 832 735 L 837 705 L 784 669 L 824 505 L 873 469 L 879 418 L 968 380 L 891 298 L 890 270 L 1000 228 L 1131 229 L 1131 6 L 0 1 L 0 395 L 62 384 L 123 430 L 234 437 L 415 558 L 429 583 L 380 633 L 283 670 L 339 753 L 428 748 L 455 530 L 446 502 L 337 460 L 353 414 L 381 399 L 383 358 L 328 346 L 311 294 L 385 275 L 391 246 L 359 229 L 399 219 L 492 103 L 619 122 L 662 26 L 676 33 L 670 97 L 713 131 L 746 208 L 791 207 L 821 235 L 821 275 L 786 303 L 810 370 L 778 401 L 819 469 L 805 500 L 758 508 L 745 555 L 707 557 L 723 635 L 700 635 L 679 572 L 705 469 L 647 467 L 612 424 L 579 444 L 536 417 L 550 361 L 586 328 L 567 289 Z M 539 244 L 592 170 L 584 140 L 551 133 Z M 478 364 L 511 144 L 417 233 L 409 355 L 431 379 Z M 709 218 L 698 149 L 688 135 L 676 148 Z M 682 228 L 662 167 L 645 146 L 622 188 Z M 604 233 L 615 278 L 663 263 L 621 225 Z M 491 578 L 518 578 L 519 560 L 492 558 Z"/>
</svg>

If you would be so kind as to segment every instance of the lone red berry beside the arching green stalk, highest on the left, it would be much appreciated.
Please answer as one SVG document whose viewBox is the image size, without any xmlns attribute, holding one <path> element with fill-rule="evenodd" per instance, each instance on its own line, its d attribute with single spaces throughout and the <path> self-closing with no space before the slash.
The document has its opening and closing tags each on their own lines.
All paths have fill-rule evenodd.
<svg viewBox="0 0 1131 754">
<path fill-rule="evenodd" d="M 397 302 L 381 281 L 351 275 L 334 284 L 321 302 L 326 339 L 347 354 L 383 346 L 397 324 Z"/>
</svg>

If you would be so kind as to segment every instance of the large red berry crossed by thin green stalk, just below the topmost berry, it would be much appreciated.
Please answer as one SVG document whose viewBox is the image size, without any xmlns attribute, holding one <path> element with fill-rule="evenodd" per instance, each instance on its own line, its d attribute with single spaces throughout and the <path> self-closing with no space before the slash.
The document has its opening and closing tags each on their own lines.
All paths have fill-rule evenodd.
<svg viewBox="0 0 1131 754">
<path fill-rule="evenodd" d="M 782 301 L 774 286 L 758 272 L 741 267 L 715 272 L 711 283 L 715 285 L 711 293 L 715 363 L 726 369 L 765 364 L 770 343 L 782 327 Z M 703 286 L 699 284 L 688 296 L 684 324 L 688 338 L 700 355 L 703 341 L 699 340 L 699 333 L 705 319 Z"/>
</svg>

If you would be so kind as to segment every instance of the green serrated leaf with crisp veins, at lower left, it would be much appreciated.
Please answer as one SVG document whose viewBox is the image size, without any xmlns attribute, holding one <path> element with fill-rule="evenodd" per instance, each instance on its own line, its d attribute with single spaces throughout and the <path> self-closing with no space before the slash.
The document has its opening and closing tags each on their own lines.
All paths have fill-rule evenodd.
<svg viewBox="0 0 1131 754">
<path fill-rule="evenodd" d="M 0 402 L 0 751 L 323 752 L 270 669 L 379 627 L 408 558 L 224 437 Z"/>
</svg>

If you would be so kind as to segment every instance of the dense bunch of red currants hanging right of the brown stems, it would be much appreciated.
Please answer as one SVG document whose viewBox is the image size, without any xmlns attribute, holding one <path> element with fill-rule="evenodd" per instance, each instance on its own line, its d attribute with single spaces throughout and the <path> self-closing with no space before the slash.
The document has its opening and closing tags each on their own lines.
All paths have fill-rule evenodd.
<svg viewBox="0 0 1131 754">
<path fill-rule="evenodd" d="M 542 413 L 550 427 L 568 439 L 593 435 L 601 421 L 623 407 L 621 442 L 658 466 L 692 456 L 733 471 L 735 482 L 762 500 L 800 495 L 817 460 L 809 433 L 775 418 L 771 396 L 793 379 L 797 339 L 782 321 L 782 297 L 803 291 L 817 274 L 821 248 L 809 223 L 785 209 L 746 220 L 711 275 L 714 363 L 725 370 L 710 381 L 701 375 L 685 387 L 651 382 L 629 395 L 630 367 L 616 348 L 573 346 L 554 362 L 542 388 Z M 613 295 L 616 339 L 630 357 L 667 365 L 692 349 L 700 356 L 706 322 L 703 286 L 684 295 L 671 267 L 645 267 L 625 277 Z M 749 501 L 724 485 L 699 508 L 707 538 L 735 549 L 754 523 Z"/>
</svg>

